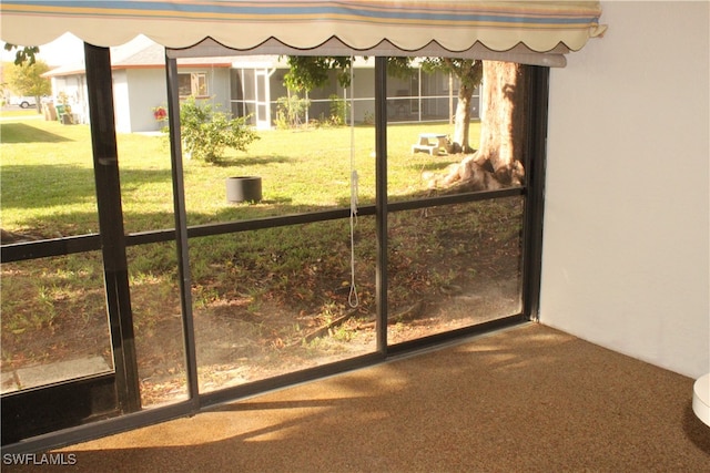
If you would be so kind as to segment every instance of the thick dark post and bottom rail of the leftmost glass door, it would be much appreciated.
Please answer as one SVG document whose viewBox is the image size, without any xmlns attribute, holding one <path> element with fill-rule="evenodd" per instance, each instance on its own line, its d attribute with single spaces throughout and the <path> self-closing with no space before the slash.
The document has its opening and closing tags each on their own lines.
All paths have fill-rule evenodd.
<svg viewBox="0 0 710 473">
<path fill-rule="evenodd" d="M 84 58 L 99 238 L 114 372 L 3 397 L 3 445 L 141 410 L 113 114 L 111 54 L 108 48 L 84 43 Z"/>
</svg>

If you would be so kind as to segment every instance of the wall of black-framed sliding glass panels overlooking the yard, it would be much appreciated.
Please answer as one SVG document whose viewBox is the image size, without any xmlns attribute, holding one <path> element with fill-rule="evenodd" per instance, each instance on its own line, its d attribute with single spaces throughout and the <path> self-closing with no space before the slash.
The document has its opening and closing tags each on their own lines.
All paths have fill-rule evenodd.
<svg viewBox="0 0 710 473">
<path fill-rule="evenodd" d="M 51 125 L 64 157 L 2 163 L 3 225 L 27 237 L 2 241 L 3 444 L 193 413 L 535 317 L 547 69 L 526 68 L 518 85 L 515 178 L 480 161 L 493 181 L 467 187 L 452 176 L 484 148 L 486 117 L 471 113 L 457 148 L 449 96 L 462 83 L 448 73 L 393 75 L 386 58 L 353 58 L 348 83 L 333 70 L 298 95 L 280 56 L 268 75 L 210 69 L 221 92 L 196 106 L 244 112 L 233 102 L 261 90 L 274 113 L 245 146 L 203 161 L 178 126 L 174 58 L 165 100 L 150 104 L 168 109 L 170 134 L 116 141 L 109 59 L 87 47 L 91 128 Z M 61 138 L 67 126 L 75 140 Z M 31 152 L 4 131 L 3 147 Z M 243 177 L 257 192 L 235 197 Z"/>
</svg>

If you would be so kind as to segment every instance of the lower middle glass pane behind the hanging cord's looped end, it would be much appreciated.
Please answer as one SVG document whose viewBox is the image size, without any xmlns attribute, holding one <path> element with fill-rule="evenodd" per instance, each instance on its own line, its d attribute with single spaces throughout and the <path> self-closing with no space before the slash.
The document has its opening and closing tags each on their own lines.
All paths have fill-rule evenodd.
<svg viewBox="0 0 710 473">
<path fill-rule="evenodd" d="M 374 218 L 190 241 L 200 391 L 375 350 Z M 349 301 L 348 301 L 349 298 Z"/>
</svg>

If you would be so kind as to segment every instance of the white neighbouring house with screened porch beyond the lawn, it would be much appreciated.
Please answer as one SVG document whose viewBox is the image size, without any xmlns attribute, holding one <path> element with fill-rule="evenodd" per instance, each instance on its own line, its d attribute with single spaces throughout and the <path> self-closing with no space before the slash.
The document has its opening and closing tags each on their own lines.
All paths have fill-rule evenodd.
<svg viewBox="0 0 710 473">
<path fill-rule="evenodd" d="M 165 106 L 165 52 L 163 47 L 139 37 L 111 49 L 116 131 L 153 132 L 162 126 L 153 110 Z M 215 106 L 236 116 L 247 116 L 260 128 L 274 126 L 277 100 L 287 95 L 283 85 L 288 64 L 277 55 L 190 58 L 178 61 L 181 96 L 211 100 Z M 306 94 L 311 101 L 307 120 L 328 116 L 331 95 L 354 100 L 355 122 L 374 115 L 374 62 L 357 58 L 353 78 L 354 97 L 333 80 L 323 89 Z M 58 68 L 45 74 L 52 80 L 55 102 L 67 97 L 74 122 L 89 120 L 87 79 L 83 63 Z M 184 79 L 183 79 L 184 76 Z M 183 90 L 184 86 L 184 90 Z M 390 78 L 387 85 L 390 122 L 448 121 L 457 99 L 457 82 L 447 74 L 426 74 L 415 68 L 408 80 Z M 479 116 L 478 96 L 471 100 L 471 117 Z"/>
</svg>

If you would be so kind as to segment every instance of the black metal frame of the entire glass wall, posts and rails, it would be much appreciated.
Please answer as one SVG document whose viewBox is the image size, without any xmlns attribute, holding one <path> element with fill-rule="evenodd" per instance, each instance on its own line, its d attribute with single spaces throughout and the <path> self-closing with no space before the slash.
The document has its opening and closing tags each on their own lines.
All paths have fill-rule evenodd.
<svg viewBox="0 0 710 473">
<path fill-rule="evenodd" d="M 324 219 L 347 218 L 348 209 L 326 210 L 316 214 L 304 214 L 274 219 L 261 219 L 258 223 L 235 222 L 211 226 L 187 227 L 185 218 L 184 183 L 182 178 L 182 161 L 180 150 L 179 130 L 171 131 L 171 158 L 173 167 L 173 198 L 175 212 L 174 230 L 148 232 L 139 235 L 125 236 L 122 224 L 121 192 L 119 182 L 119 162 L 115 147 L 115 126 L 113 121 L 113 93 L 111 85 L 110 52 L 106 48 L 85 45 L 87 73 L 89 86 L 89 101 L 92 123 L 92 143 L 94 152 L 94 167 L 97 179 L 97 197 L 99 200 L 99 214 L 101 225 L 100 247 L 104 255 L 104 274 L 106 278 L 106 302 L 109 318 L 111 320 L 112 343 L 116 354 L 115 379 L 106 381 L 99 377 L 103 385 L 115 387 L 114 395 L 116 412 L 122 414 L 112 419 L 98 420 L 83 425 L 69 425 L 61 431 L 48 432 L 31 439 L 16 439 L 7 444 L 3 440 L 4 453 L 20 453 L 41 451 L 80 441 L 90 440 L 123 430 L 135 429 L 194 414 L 205 407 L 233 401 L 244 395 L 254 394 L 264 390 L 285 387 L 294 382 L 303 382 L 327 374 L 334 374 L 353 368 L 371 366 L 386 360 L 403 351 L 430 347 L 455 337 L 480 333 L 490 329 L 519 323 L 537 318 L 539 305 L 539 274 L 541 260 L 541 234 L 542 234 L 542 206 L 545 183 L 545 142 L 547 133 L 547 97 L 548 97 L 548 68 L 532 68 L 531 79 L 528 84 L 531 94 L 530 123 L 528 128 L 527 163 L 530 169 L 527 185 L 524 189 L 504 189 L 491 193 L 475 193 L 474 195 L 456 195 L 436 197 L 420 202 L 387 203 L 387 123 L 386 123 L 386 58 L 375 59 L 375 91 L 376 91 L 376 202 L 374 206 L 364 206 L 358 209 L 359 215 L 374 215 L 377 220 L 377 347 L 373 354 L 358 357 L 343 362 L 316 367 L 300 372 L 288 373 L 274 379 L 258 381 L 245 387 L 225 389 L 217 392 L 200 394 L 197 389 L 196 357 L 194 345 L 194 328 L 192 326 L 192 304 L 190 295 L 190 274 L 187 257 L 187 238 L 206 235 L 217 235 L 229 232 L 262 228 L 270 226 L 293 225 L 297 223 L 318 222 Z M 91 71 L 91 79 L 89 78 Z M 171 123 L 179 122 L 179 103 L 176 90 L 176 62 L 166 59 L 166 81 L 169 90 L 169 104 Z M 429 337 L 425 340 L 387 346 L 387 214 L 410 208 L 422 208 L 429 205 L 442 205 L 458 202 L 475 202 L 488 198 L 506 197 L 514 195 L 526 196 L 525 225 L 524 225 L 524 256 L 523 256 L 523 302 L 524 310 L 520 315 L 508 317 L 500 321 L 484 323 L 470 329 L 459 329 L 454 332 Z M 74 243 L 68 244 L 68 241 Z M 180 267 L 180 286 L 183 309 L 183 331 L 185 337 L 185 357 L 187 372 L 187 401 L 175 404 L 141 411 L 140 393 L 138 387 L 138 369 L 135 346 L 133 339 L 133 325 L 130 305 L 130 291 L 128 286 L 128 264 L 125 257 L 126 245 L 140 245 L 144 243 L 176 241 Z M 40 243 L 38 245 L 10 245 L 13 248 L 2 248 L 1 257 L 10 260 L 39 257 L 38 255 L 69 254 L 88 249 L 97 249 L 99 241 L 95 236 L 83 236 L 62 239 L 61 241 Z M 61 253 L 59 253 L 61 251 Z M 91 382 L 91 379 L 82 382 Z M 77 383 L 71 389 L 79 389 Z M 74 392 L 74 391 L 71 391 Z M 71 393 L 70 392 L 70 393 Z M 89 389 L 91 392 L 91 389 Z M 93 394 L 89 394 L 93 395 Z M 31 405 L 31 404 L 30 404 Z M 3 414 L 6 413 L 6 400 L 3 399 Z M 104 414 L 112 417 L 113 414 Z M 3 415 L 4 418 L 4 415 Z M 95 419 L 94 419 L 95 420 Z M 4 421 L 3 421 L 4 428 Z M 3 429 L 4 431 L 4 429 Z M 3 438 L 4 439 L 4 438 Z M 21 441 L 20 441 L 21 440 Z M 14 443 L 17 442 L 17 443 Z"/>
</svg>

